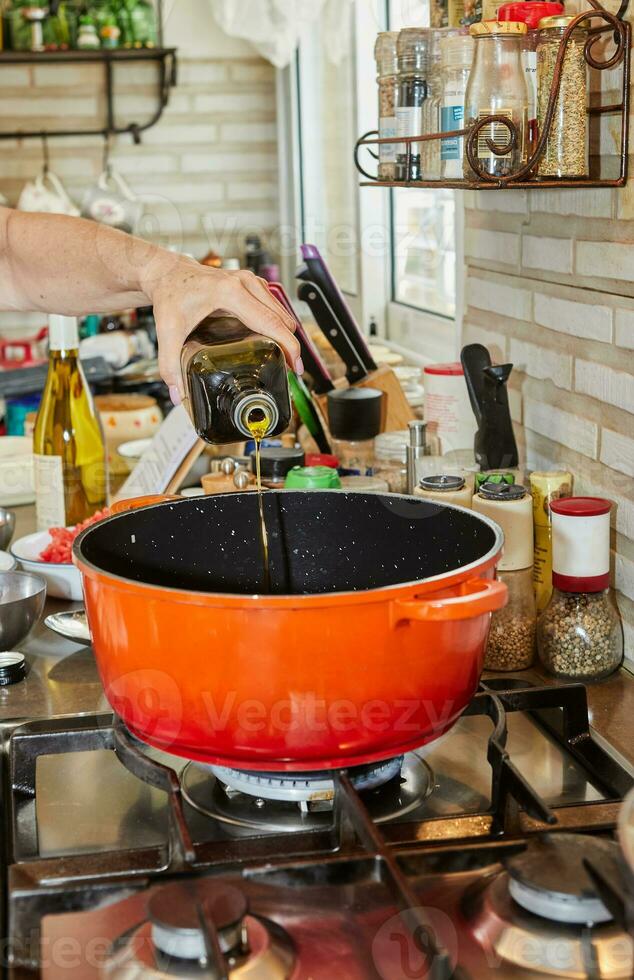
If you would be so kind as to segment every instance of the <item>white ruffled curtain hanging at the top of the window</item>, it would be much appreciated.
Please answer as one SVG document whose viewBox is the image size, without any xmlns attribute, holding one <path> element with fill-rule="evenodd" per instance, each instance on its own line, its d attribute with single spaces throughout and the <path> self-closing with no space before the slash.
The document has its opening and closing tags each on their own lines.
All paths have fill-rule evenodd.
<svg viewBox="0 0 634 980">
<path fill-rule="evenodd" d="M 225 34 L 250 41 L 276 68 L 285 68 L 294 55 L 301 32 L 321 19 L 326 55 L 339 64 L 349 50 L 346 7 L 354 0 L 210 0 L 214 17 Z"/>
</svg>

